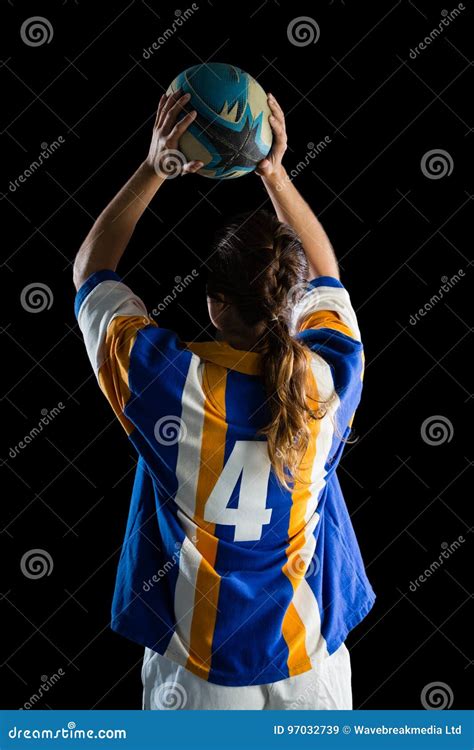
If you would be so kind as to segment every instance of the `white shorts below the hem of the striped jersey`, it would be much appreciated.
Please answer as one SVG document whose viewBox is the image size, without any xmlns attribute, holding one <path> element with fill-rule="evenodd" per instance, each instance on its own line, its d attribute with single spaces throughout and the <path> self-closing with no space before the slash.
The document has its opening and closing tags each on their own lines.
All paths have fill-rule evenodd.
<svg viewBox="0 0 474 750">
<path fill-rule="evenodd" d="M 145 710 L 352 709 L 351 662 L 344 643 L 317 671 L 245 687 L 208 682 L 145 648 L 142 682 Z"/>
</svg>

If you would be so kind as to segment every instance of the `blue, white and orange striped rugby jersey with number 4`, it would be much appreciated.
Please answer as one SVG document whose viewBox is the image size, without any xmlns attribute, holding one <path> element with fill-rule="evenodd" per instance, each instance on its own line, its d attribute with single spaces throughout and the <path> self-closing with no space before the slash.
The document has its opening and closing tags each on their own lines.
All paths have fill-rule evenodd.
<svg viewBox="0 0 474 750">
<path fill-rule="evenodd" d="M 317 669 L 375 600 L 336 475 L 363 373 L 347 291 L 319 277 L 294 310 L 309 404 L 337 395 L 310 422 L 292 491 L 258 435 L 269 421 L 258 352 L 182 343 L 112 271 L 85 281 L 75 309 L 138 453 L 112 629 L 221 685 Z"/>
</svg>

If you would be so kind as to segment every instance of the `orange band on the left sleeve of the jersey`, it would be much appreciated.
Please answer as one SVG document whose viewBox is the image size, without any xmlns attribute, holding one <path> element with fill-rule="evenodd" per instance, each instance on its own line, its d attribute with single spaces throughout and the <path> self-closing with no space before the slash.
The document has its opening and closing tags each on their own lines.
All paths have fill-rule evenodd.
<svg viewBox="0 0 474 750">
<path fill-rule="evenodd" d="M 138 331 L 148 325 L 156 323 L 138 315 L 119 315 L 114 318 L 107 328 L 104 342 L 105 361 L 98 372 L 99 385 L 127 435 L 133 431 L 132 423 L 123 414 L 130 398 L 130 354 Z"/>
</svg>

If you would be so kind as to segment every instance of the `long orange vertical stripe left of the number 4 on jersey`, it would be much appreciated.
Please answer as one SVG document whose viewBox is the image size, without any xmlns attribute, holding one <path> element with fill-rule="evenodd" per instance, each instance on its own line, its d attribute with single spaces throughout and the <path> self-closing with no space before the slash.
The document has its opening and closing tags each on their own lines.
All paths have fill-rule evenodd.
<svg viewBox="0 0 474 750">
<path fill-rule="evenodd" d="M 224 467 L 226 372 L 207 362 L 203 372 L 204 425 L 194 520 L 196 547 L 202 555 L 196 579 L 191 639 L 186 669 L 207 679 L 211 668 L 212 639 L 217 617 L 221 577 L 214 570 L 219 540 L 215 524 L 204 521 L 206 501 Z M 224 419 L 223 419 L 224 415 Z"/>
</svg>

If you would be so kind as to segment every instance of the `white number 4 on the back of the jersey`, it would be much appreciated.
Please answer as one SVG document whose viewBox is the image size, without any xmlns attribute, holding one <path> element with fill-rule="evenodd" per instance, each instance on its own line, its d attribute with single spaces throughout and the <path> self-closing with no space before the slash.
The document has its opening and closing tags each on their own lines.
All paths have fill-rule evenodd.
<svg viewBox="0 0 474 750">
<path fill-rule="evenodd" d="M 265 442 L 237 440 L 206 502 L 204 520 L 234 526 L 236 542 L 261 539 L 262 527 L 272 517 L 272 509 L 265 507 L 270 469 Z M 240 475 L 239 505 L 228 508 Z"/>
</svg>

